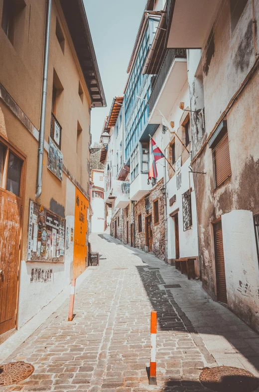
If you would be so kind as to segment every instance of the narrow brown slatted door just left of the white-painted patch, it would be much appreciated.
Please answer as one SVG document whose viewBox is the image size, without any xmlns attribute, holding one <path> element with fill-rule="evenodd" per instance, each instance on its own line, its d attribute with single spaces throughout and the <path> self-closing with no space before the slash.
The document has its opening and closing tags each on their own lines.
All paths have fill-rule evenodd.
<svg viewBox="0 0 259 392">
<path fill-rule="evenodd" d="M 224 260 L 221 221 L 214 225 L 214 240 L 215 240 L 216 276 L 217 276 L 217 297 L 218 297 L 218 301 L 227 304 L 228 303 L 227 286 L 226 286 L 225 260 Z"/>
</svg>

